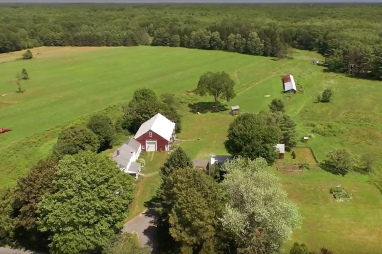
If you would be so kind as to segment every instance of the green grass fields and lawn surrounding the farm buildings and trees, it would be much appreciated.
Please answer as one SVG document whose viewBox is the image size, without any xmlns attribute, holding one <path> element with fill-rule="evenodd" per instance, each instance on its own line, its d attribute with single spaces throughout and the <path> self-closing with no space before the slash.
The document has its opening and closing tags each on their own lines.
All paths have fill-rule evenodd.
<svg viewBox="0 0 382 254">
<path fill-rule="evenodd" d="M 299 148 L 296 160 L 312 162 L 310 170 L 287 173 L 277 172 L 275 167 L 270 169 L 281 178 L 289 197 L 304 216 L 302 229 L 293 233 L 286 251 L 298 241 L 316 251 L 325 246 L 335 254 L 382 253 L 382 196 L 376 187 L 378 183 L 381 186 L 382 179 L 381 82 L 325 72 L 324 67 L 310 64 L 312 58 L 323 59 L 306 51 L 295 51 L 291 60 L 276 60 L 162 47 L 45 50 L 51 50 L 51 56 L 0 64 L 0 127 L 13 128 L 0 136 L 1 186 L 13 186 L 31 165 L 46 156 L 62 127 L 83 122 L 109 105 L 128 101 L 136 89 L 143 87 L 158 94 L 176 94 L 184 102 L 183 130 L 178 138 L 184 140 L 179 144 L 192 159 L 226 153 L 224 141 L 234 117 L 228 111 L 195 114 L 188 107 L 189 103 L 212 102 L 210 97 L 190 93 L 200 75 L 225 71 L 237 83 L 237 97 L 223 102 L 227 107 L 239 104 L 241 112 L 259 112 L 267 110 L 272 99 L 281 98 L 287 113 L 298 124 L 300 137 L 314 129 L 314 138 L 305 145 L 313 149 L 319 161 L 336 147 L 349 148 L 359 156 L 372 153 L 377 158 L 375 173 L 350 173 L 342 177 L 320 169 L 312 161 L 309 149 Z M 25 92 L 19 94 L 15 92 L 14 77 L 23 68 L 31 79 L 23 82 Z M 294 75 L 303 93 L 281 93 L 281 76 L 288 73 Z M 326 87 L 334 91 L 332 102 L 314 103 L 316 95 Z M 145 158 L 151 157 L 145 154 Z M 165 159 L 158 158 L 161 163 Z M 148 172 L 158 170 L 154 169 L 159 167 L 156 160 L 154 156 L 148 163 Z M 286 161 L 291 160 L 287 154 Z M 141 179 L 142 190 L 149 179 Z M 155 177 L 154 185 L 159 183 Z M 329 189 L 337 184 L 354 198 L 335 202 Z M 148 189 L 153 195 L 153 185 Z M 139 200 L 133 205 L 137 208 L 130 215 L 143 209 L 142 204 L 150 198 L 146 194 L 138 195 Z"/>
</svg>

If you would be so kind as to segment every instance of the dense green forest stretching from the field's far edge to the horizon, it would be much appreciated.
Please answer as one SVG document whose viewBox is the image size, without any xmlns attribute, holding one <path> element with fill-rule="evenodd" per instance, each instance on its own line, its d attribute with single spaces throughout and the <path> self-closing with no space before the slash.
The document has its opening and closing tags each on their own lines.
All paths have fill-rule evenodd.
<svg viewBox="0 0 382 254">
<path fill-rule="evenodd" d="M 38 46 L 170 46 L 278 58 L 382 78 L 382 5 L 0 5 L 0 53 Z"/>
</svg>

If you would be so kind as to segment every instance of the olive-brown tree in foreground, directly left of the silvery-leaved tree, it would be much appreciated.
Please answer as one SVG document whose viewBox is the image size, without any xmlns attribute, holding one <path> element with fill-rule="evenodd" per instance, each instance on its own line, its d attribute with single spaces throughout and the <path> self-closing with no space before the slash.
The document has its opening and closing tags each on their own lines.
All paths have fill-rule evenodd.
<svg viewBox="0 0 382 254">
<path fill-rule="evenodd" d="M 215 253 L 216 229 L 223 196 L 220 186 L 203 171 L 179 169 L 168 178 L 163 197 L 167 201 L 169 234 L 182 254 Z"/>
</svg>

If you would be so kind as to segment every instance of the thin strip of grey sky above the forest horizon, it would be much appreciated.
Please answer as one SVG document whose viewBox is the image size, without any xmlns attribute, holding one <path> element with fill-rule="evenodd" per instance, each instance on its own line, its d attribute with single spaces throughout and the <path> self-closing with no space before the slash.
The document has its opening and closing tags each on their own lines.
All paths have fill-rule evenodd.
<svg viewBox="0 0 382 254">
<path fill-rule="evenodd" d="M 382 3 L 382 0 L 0 0 L 0 3 L 73 3 L 73 2 L 118 2 L 118 3 Z"/>
</svg>

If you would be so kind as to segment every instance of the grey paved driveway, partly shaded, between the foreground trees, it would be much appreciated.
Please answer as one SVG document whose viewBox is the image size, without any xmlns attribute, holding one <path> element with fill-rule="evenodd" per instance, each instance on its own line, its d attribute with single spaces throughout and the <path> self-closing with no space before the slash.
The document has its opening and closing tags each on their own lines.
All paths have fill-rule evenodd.
<svg viewBox="0 0 382 254">
<path fill-rule="evenodd" d="M 138 241 L 141 247 L 145 245 L 153 248 L 153 253 L 156 253 L 156 236 L 155 236 L 155 226 L 153 224 L 154 215 L 145 211 L 132 219 L 131 221 L 125 223 L 122 232 L 138 234 Z"/>
</svg>

